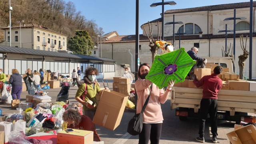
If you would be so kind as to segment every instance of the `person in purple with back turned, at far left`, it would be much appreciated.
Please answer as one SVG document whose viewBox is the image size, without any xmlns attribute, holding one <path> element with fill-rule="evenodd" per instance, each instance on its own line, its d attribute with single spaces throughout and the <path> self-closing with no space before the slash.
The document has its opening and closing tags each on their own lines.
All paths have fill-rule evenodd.
<svg viewBox="0 0 256 144">
<path fill-rule="evenodd" d="M 9 83 L 12 84 L 12 99 L 20 100 L 20 94 L 22 92 L 22 76 L 17 69 L 12 69 L 12 75 L 10 76 Z"/>
</svg>

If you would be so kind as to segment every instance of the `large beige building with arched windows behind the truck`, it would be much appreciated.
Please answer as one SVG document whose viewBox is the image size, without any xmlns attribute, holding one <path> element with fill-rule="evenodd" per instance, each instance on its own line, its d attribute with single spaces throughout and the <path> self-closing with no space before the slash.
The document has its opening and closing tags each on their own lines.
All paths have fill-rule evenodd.
<svg viewBox="0 0 256 144">
<path fill-rule="evenodd" d="M 256 2 L 253 2 L 255 10 Z M 203 6 L 197 8 L 186 8 L 177 10 L 167 10 L 164 12 L 164 22 L 183 22 L 183 24 L 175 24 L 174 33 L 186 33 L 180 36 L 180 47 L 184 47 L 186 51 L 190 50 L 193 46 L 198 47 L 198 55 L 202 57 L 221 57 L 222 48 L 225 49 L 225 32 L 219 32 L 225 30 L 227 24 L 227 30 L 234 29 L 233 20 L 225 20 L 225 18 L 234 17 L 234 9 L 236 9 L 236 18 L 244 17 L 246 19 L 236 20 L 236 47 L 235 47 L 235 62 L 236 72 L 239 72 L 238 56 L 243 54 L 240 46 L 240 35 L 245 37 L 249 36 L 250 32 L 250 2 L 241 2 L 234 4 L 222 4 L 214 6 Z M 254 27 L 256 23 L 255 11 L 253 11 L 253 47 L 252 47 L 252 62 L 256 61 L 256 30 Z M 157 21 L 159 21 L 159 27 L 161 29 L 161 18 L 153 20 L 150 25 L 153 25 L 153 36 L 157 36 Z M 148 22 L 143 24 L 146 32 L 149 34 Z M 141 28 L 143 28 L 141 26 Z M 143 30 L 143 34 L 140 34 L 140 48 L 139 58 L 140 62 L 147 62 L 151 64 L 151 52 L 148 37 Z M 116 32 L 112 32 L 116 33 Z M 233 32 L 227 33 L 227 46 L 233 47 Z M 110 35 L 110 34 L 109 34 Z M 160 35 L 160 34 L 159 34 Z M 173 24 L 164 25 L 164 39 L 168 42 L 173 40 Z M 179 47 L 179 36 L 175 36 L 174 46 L 177 49 Z M 249 38 L 247 41 L 246 49 L 249 51 Z M 158 54 L 160 53 L 160 50 Z M 108 36 L 105 41 L 102 42 L 102 57 L 111 58 L 116 61 L 117 64 L 130 64 L 131 71 L 135 71 L 135 35 L 118 36 L 118 34 Z M 245 75 L 248 74 L 249 58 L 245 64 Z M 256 64 L 252 64 L 252 77 L 256 78 Z"/>
</svg>

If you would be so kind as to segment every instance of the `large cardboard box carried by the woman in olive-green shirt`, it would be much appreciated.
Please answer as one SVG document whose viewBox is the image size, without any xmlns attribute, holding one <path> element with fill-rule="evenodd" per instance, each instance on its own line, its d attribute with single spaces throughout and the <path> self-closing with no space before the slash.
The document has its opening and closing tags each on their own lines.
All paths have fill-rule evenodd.
<svg viewBox="0 0 256 144">
<path fill-rule="evenodd" d="M 119 92 L 103 91 L 92 122 L 115 130 L 121 122 L 127 100 L 128 96 Z"/>
</svg>

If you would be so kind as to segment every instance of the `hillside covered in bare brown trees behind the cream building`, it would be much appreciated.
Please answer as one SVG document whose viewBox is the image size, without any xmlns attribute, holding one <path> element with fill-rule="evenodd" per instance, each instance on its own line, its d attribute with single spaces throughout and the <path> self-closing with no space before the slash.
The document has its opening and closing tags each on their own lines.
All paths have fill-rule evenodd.
<svg viewBox="0 0 256 144">
<path fill-rule="evenodd" d="M 25 24 L 41 24 L 56 32 L 68 35 L 68 40 L 76 36 L 76 31 L 88 32 L 94 44 L 98 35 L 104 34 L 94 20 L 87 20 L 72 1 L 64 0 L 11 0 L 12 26 L 18 26 L 17 21 L 24 20 Z M 84 6 L 86 7 L 86 5 Z M 9 25 L 9 0 L 0 0 L 0 28 Z M 3 31 L 0 31 L 0 41 Z"/>
</svg>

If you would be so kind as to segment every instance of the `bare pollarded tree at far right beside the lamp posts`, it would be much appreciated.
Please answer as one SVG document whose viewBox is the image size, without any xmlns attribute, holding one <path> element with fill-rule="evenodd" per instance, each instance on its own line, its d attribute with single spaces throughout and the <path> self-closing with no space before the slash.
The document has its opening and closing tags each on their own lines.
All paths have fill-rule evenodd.
<svg viewBox="0 0 256 144">
<path fill-rule="evenodd" d="M 248 36 L 245 38 L 245 45 L 244 45 L 244 35 L 240 35 L 240 45 L 243 50 L 243 54 L 238 56 L 238 66 L 239 66 L 239 78 L 244 78 L 244 65 L 245 61 L 249 56 L 249 52 L 246 50 L 246 43 L 247 43 Z"/>
</svg>

